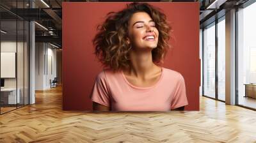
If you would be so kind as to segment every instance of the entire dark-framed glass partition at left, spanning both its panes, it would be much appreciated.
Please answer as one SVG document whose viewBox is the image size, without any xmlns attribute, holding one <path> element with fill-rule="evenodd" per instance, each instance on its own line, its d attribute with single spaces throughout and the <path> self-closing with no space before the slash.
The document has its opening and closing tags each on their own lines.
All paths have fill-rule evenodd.
<svg viewBox="0 0 256 143">
<path fill-rule="evenodd" d="M 12 13 L 28 1 L 0 1 L 0 114 L 29 103 L 29 22 Z"/>
</svg>

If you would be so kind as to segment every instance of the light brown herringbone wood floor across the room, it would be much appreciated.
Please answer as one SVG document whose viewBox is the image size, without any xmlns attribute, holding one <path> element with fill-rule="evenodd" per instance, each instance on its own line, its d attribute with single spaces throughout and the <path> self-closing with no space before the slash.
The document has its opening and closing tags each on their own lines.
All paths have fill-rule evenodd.
<svg viewBox="0 0 256 143">
<path fill-rule="evenodd" d="M 0 142 L 256 142 L 256 112 L 200 98 L 199 112 L 61 110 L 61 87 L 0 116 Z"/>
</svg>

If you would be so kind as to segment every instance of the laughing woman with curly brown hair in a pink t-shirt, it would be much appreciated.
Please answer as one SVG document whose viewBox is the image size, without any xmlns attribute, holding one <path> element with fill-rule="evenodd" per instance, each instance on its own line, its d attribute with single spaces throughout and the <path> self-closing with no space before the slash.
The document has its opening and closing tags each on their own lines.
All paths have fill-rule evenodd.
<svg viewBox="0 0 256 143">
<path fill-rule="evenodd" d="M 169 49 L 169 32 L 166 16 L 147 3 L 131 3 L 108 14 L 93 39 L 105 67 L 90 94 L 93 110 L 184 110 L 184 78 L 157 65 Z"/>
</svg>

